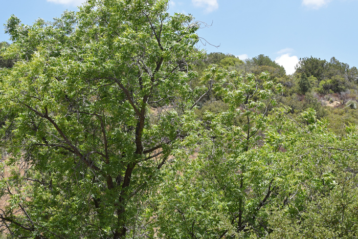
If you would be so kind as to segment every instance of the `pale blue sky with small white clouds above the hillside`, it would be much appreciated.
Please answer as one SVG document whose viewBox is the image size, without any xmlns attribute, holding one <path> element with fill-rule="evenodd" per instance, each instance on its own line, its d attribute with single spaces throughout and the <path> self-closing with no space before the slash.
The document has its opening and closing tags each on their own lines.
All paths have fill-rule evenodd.
<svg viewBox="0 0 358 239">
<path fill-rule="evenodd" d="M 2 3 L 0 23 L 11 14 L 24 24 L 76 10 L 83 0 L 15 0 Z M 269 56 L 293 73 L 299 58 L 332 56 L 358 67 L 358 0 L 170 0 L 169 12 L 192 14 L 211 27 L 200 48 L 240 59 Z M 9 36 L 0 33 L 0 41 Z M 205 39 L 205 40 L 204 40 Z"/>
</svg>

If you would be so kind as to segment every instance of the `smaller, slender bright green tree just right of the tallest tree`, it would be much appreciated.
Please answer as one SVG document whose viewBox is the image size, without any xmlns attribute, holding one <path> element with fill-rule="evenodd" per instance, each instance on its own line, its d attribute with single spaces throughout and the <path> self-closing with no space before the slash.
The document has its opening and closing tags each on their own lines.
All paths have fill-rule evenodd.
<svg viewBox="0 0 358 239">
<path fill-rule="evenodd" d="M 209 71 L 216 78 L 216 72 Z M 287 185 L 277 178 L 290 171 L 279 166 L 285 156 L 277 129 L 284 114 L 269 116 L 282 86 L 267 74 L 259 81 L 254 75 L 242 78 L 228 73 L 224 79 L 226 84 L 215 89 L 229 110 L 203 115 L 203 127 L 183 141 L 195 158 L 168 168 L 160 193 L 153 192 L 159 238 L 246 238 L 270 233 L 264 208 L 283 201 L 277 194 Z M 185 156 L 182 151 L 181 158 Z"/>
</svg>

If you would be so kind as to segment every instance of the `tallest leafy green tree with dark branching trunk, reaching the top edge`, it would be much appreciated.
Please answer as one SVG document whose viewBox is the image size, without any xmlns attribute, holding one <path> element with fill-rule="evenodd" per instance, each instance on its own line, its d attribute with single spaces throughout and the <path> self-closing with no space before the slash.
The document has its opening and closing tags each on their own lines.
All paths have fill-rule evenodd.
<svg viewBox="0 0 358 239">
<path fill-rule="evenodd" d="M 53 23 L 8 20 L 14 42 L 3 56 L 18 61 L 0 71 L 11 172 L 1 180 L 2 230 L 127 238 L 148 223 L 147 195 L 175 162 L 169 156 L 193 124 L 192 108 L 211 87 L 188 84 L 201 57 L 198 23 L 167 7 L 93 0 Z M 171 110 L 152 123 L 149 109 L 165 105 Z"/>
</svg>

